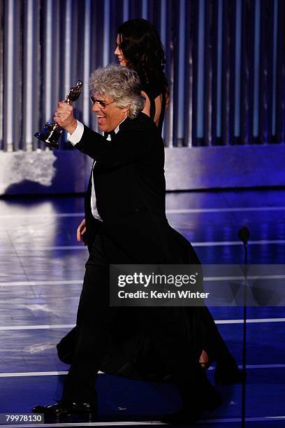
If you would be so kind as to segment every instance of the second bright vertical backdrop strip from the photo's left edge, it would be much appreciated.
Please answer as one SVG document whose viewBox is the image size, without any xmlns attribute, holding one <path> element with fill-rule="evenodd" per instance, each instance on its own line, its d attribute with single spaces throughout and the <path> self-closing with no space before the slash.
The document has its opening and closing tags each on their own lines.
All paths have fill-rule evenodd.
<svg viewBox="0 0 285 428">
<path fill-rule="evenodd" d="M 31 150 L 32 141 L 34 137 L 33 129 L 33 74 L 34 74 L 34 55 L 33 55 L 33 35 L 34 35 L 34 3 L 33 0 L 27 0 L 27 34 L 25 46 L 25 61 L 26 61 L 26 86 L 25 99 L 24 99 L 24 114 L 26 120 L 24 142 L 26 143 L 26 150 Z"/>
</svg>

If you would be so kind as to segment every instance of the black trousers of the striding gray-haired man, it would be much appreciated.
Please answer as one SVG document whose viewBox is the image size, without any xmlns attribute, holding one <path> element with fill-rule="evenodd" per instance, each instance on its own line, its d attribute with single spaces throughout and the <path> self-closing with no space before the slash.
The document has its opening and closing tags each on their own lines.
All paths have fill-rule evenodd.
<svg viewBox="0 0 285 428">
<path fill-rule="evenodd" d="M 172 376 L 185 403 L 195 405 L 211 385 L 185 333 L 187 313 L 180 307 L 117 308 L 109 306 L 109 264 L 131 264 L 103 232 L 89 252 L 78 306 L 78 329 L 73 362 L 66 378 L 62 401 L 95 404 L 96 375 L 108 347 L 110 329 L 119 311 L 133 319 L 151 338 L 161 364 Z M 189 308 L 187 308 L 189 311 Z M 126 313 L 127 311 L 127 313 Z"/>
</svg>

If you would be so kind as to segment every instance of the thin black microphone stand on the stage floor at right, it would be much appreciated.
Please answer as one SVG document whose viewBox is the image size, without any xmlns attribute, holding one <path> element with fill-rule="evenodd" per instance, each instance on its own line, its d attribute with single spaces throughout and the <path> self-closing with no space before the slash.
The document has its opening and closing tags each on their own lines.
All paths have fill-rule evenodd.
<svg viewBox="0 0 285 428">
<path fill-rule="evenodd" d="M 242 227 L 238 236 L 244 245 L 244 294 L 243 294 L 243 329 L 242 329 L 242 428 L 245 427 L 245 392 L 247 371 L 247 242 L 249 229 Z"/>
</svg>

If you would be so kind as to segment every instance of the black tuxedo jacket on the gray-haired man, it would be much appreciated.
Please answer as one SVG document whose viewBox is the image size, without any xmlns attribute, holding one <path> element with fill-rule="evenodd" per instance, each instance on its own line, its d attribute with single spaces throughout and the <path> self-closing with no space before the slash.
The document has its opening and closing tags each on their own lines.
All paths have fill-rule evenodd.
<svg viewBox="0 0 285 428">
<path fill-rule="evenodd" d="M 198 264 L 189 242 L 166 219 L 164 146 L 147 115 L 127 117 L 112 141 L 85 127 L 75 148 L 96 160 L 94 186 L 103 225 L 92 215 L 90 177 L 85 198 L 89 248 L 100 226 L 129 255 L 130 263 Z"/>
</svg>

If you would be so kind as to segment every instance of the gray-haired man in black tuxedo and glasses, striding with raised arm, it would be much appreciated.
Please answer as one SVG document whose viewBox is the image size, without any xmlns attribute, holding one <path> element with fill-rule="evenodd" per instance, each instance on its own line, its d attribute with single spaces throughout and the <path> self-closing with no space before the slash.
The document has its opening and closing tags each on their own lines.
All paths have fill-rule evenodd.
<svg viewBox="0 0 285 428">
<path fill-rule="evenodd" d="M 221 402 L 187 340 L 185 308 L 109 306 L 110 264 L 198 264 L 191 245 L 166 219 L 163 141 L 154 122 L 142 113 L 145 100 L 135 71 L 123 66 L 98 69 L 90 87 L 92 112 L 99 129 L 109 133 L 107 138 L 75 120 L 73 107 L 64 102 L 54 113 L 71 144 L 94 159 L 85 198 L 89 259 L 61 402 L 34 411 L 58 416 L 96 413 L 96 374 L 110 327 L 124 311 L 130 324 L 136 320 L 147 332 L 182 397 L 180 411 L 164 420 L 193 422 Z"/>
</svg>

